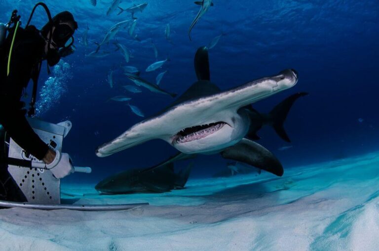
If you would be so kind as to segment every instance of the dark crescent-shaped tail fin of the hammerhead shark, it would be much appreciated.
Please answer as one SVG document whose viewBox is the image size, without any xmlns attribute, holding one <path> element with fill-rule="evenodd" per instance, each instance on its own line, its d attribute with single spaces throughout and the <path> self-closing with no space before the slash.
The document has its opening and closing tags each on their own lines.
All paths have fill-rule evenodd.
<svg viewBox="0 0 379 251">
<path fill-rule="evenodd" d="M 283 124 L 287 118 L 288 112 L 290 111 L 294 102 L 301 96 L 308 95 L 308 93 L 296 93 L 284 99 L 282 102 L 277 104 L 269 113 L 272 117 L 272 127 L 274 127 L 276 133 L 285 141 L 291 142 L 286 131 L 284 130 Z"/>
</svg>

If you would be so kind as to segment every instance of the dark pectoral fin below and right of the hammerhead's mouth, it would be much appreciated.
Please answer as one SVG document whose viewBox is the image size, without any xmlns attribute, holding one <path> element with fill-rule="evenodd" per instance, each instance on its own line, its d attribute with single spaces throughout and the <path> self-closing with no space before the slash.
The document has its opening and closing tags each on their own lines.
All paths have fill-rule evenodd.
<svg viewBox="0 0 379 251">
<path fill-rule="evenodd" d="M 283 166 L 267 149 L 248 139 L 242 139 L 234 146 L 221 152 L 222 157 L 240 161 L 277 176 L 283 175 Z"/>
</svg>

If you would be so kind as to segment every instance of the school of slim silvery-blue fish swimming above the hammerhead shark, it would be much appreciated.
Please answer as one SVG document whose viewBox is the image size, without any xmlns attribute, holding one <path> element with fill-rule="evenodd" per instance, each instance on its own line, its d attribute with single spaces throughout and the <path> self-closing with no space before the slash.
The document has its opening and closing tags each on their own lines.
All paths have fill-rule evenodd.
<svg viewBox="0 0 379 251">
<path fill-rule="evenodd" d="M 142 41 L 142 38 L 140 38 L 140 36 L 138 35 L 141 32 L 141 30 L 138 28 L 138 23 L 140 21 L 138 21 L 138 23 L 137 23 L 137 20 L 140 20 L 140 19 L 139 19 L 139 17 L 136 17 L 136 15 L 140 16 L 141 13 L 143 13 L 145 8 L 148 6 L 148 3 L 147 2 L 141 2 L 141 3 L 133 2 L 132 4 L 130 4 L 130 3 L 128 4 L 123 0 L 112 0 L 111 2 L 106 3 L 105 1 L 90 0 L 90 4 L 93 7 L 97 6 L 97 8 L 100 8 L 99 6 L 101 6 L 101 5 L 106 5 L 106 11 L 104 14 L 106 14 L 107 16 L 115 15 L 115 16 L 125 17 L 126 15 L 124 13 L 129 13 L 131 16 L 130 16 L 130 19 L 123 20 L 119 23 L 116 23 L 111 28 L 109 28 L 109 30 L 107 32 L 105 32 L 103 40 L 98 41 L 98 42 L 89 39 L 90 38 L 89 33 L 91 33 L 91 31 L 90 31 L 90 28 L 87 24 L 86 29 L 82 33 L 81 42 L 86 48 L 89 48 L 93 44 L 95 44 L 97 47 L 93 51 L 89 51 L 89 52 L 85 53 L 85 57 L 89 58 L 89 59 L 93 58 L 93 59 L 102 60 L 103 58 L 108 57 L 117 51 L 121 54 L 125 63 L 133 62 L 133 60 L 132 60 L 134 58 L 132 55 L 133 50 L 130 50 L 128 48 L 128 47 L 132 47 L 132 46 L 130 46 L 129 44 L 126 44 L 125 42 L 121 43 L 121 42 L 119 42 L 118 39 L 119 38 L 125 38 L 124 34 L 127 32 L 128 35 L 133 40 L 136 40 L 137 42 Z M 127 4 L 128 4 L 128 6 L 126 6 Z M 195 1 L 195 4 L 199 5 L 201 7 L 200 7 L 198 14 L 195 16 L 195 18 L 193 19 L 193 21 L 189 27 L 188 35 L 189 35 L 190 40 L 191 40 L 190 32 L 194 28 L 195 24 L 208 11 L 209 7 L 214 5 L 212 0 Z M 118 9 L 118 13 L 116 12 L 117 9 Z M 174 31 L 174 33 L 175 33 L 175 31 Z M 120 35 L 120 34 L 122 34 L 122 35 Z M 222 32 L 220 35 L 214 37 L 208 45 L 209 49 L 214 48 L 219 43 L 220 38 L 223 35 L 225 35 L 225 34 Z M 167 23 L 165 25 L 164 38 L 169 43 L 174 45 L 174 43 L 172 41 L 172 30 L 171 30 L 171 26 L 169 23 Z M 113 49 L 109 48 L 110 43 L 113 44 L 115 46 L 115 48 L 114 47 L 113 47 Z M 103 50 L 103 47 L 106 47 L 107 50 Z M 124 90 L 129 94 L 138 94 L 138 93 L 142 93 L 142 90 L 140 87 L 144 87 L 153 93 L 167 94 L 167 95 L 170 95 L 171 97 L 176 96 L 175 93 L 167 92 L 159 86 L 160 83 L 162 82 L 163 76 L 168 72 L 167 69 L 164 69 L 168 65 L 167 62 L 170 61 L 168 56 L 164 60 L 158 60 L 157 44 L 155 44 L 151 38 L 150 38 L 150 47 L 152 48 L 155 61 L 147 66 L 145 72 L 153 72 L 153 71 L 156 71 L 156 70 L 163 68 L 163 70 L 161 70 L 161 72 L 159 72 L 156 75 L 155 84 L 153 84 L 152 82 L 142 78 L 140 76 L 141 72 L 137 67 L 131 66 L 131 65 L 122 65 L 122 63 L 121 63 L 121 65 L 119 65 L 119 67 L 116 67 L 114 65 L 111 69 L 109 69 L 107 71 L 106 82 L 109 84 L 110 88 L 112 88 L 112 89 L 121 88 L 121 90 Z M 130 80 L 132 83 L 134 83 L 134 85 L 126 85 L 126 84 L 115 85 L 114 76 L 116 76 L 117 83 L 124 83 L 125 82 L 125 81 L 118 81 L 118 76 L 120 76 L 118 74 L 119 70 L 122 73 L 121 76 L 126 76 L 125 79 Z M 132 98 L 128 97 L 128 96 L 117 95 L 117 96 L 110 98 L 109 100 L 118 101 L 118 102 L 126 102 L 127 101 L 128 102 L 127 105 L 129 106 L 130 110 L 134 114 L 136 114 L 137 116 L 140 116 L 140 117 L 144 117 L 145 116 L 144 113 L 137 106 L 129 103 L 129 101 L 131 99 Z"/>
</svg>

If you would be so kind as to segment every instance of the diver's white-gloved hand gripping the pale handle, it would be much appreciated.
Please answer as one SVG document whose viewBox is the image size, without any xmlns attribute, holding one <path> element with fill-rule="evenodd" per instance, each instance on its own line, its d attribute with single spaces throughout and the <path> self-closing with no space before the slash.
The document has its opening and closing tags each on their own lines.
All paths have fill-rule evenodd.
<svg viewBox="0 0 379 251">
<path fill-rule="evenodd" d="M 56 157 L 50 164 L 46 164 L 46 168 L 49 169 L 55 178 L 62 179 L 67 175 L 73 173 L 74 167 L 72 160 L 68 154 L 60 153 L 56 151 Z"/>
</svg>

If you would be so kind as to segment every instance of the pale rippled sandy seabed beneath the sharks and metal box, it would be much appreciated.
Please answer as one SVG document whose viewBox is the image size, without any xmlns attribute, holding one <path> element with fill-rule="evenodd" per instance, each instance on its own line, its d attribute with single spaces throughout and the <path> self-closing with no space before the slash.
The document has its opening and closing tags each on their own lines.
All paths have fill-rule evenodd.
<svg viewBox="0 0 379 251">
<path fill-rule="evenodd" d="M 378 251 L 379 153 L 288 168 L 281 178 L 189 180 L 162 194 L 99 195 L 63 185 L 75 204 L 131 210 L 0 210 L 1 251 Z"/>
</svg>

